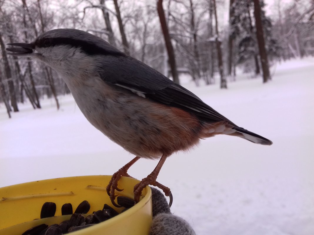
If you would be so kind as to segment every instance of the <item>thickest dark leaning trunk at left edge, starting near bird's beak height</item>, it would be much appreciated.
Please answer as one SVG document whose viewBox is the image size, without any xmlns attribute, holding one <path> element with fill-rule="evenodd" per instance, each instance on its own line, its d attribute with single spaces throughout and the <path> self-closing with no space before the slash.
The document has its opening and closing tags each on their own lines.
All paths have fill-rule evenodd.
<svg viewBox="0 0 314 235">
<path fill-rule="evenodd" d="M 11 68 L 9 65 L 8 56 L 5 50 L 5 45 L 4 45 L 1 33 L 0 33 L 0 45 L 1 45 L 1 51 L 2 51 L 3 64 L 4 64 L 4 72 L 8 80 L 11 105 L 13 107 L 14 112 L 19 112 L 19 108 L 18 108 L 18 104 L 16 100 L 16 94 L 15 94 L 14 81 L 12 78 Z"/>
</svg>

